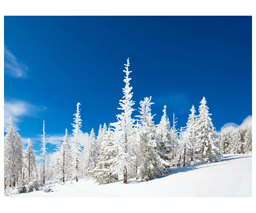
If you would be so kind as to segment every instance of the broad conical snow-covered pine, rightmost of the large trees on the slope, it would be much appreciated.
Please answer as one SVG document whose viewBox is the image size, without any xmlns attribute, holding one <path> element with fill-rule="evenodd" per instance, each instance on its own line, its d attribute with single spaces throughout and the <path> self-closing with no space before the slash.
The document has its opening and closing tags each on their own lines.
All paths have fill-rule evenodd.
<svg viewBox="0 0 256 213">
<path fill-rule="evenodd" d="M 196 158 L 205 162 L 220 161 L 219 141 L 215 127 L 211 122 L 211 114 L 208 111 L 205 97 L 200 103 L 200 114 L 196 118 Z"/>
</svg>

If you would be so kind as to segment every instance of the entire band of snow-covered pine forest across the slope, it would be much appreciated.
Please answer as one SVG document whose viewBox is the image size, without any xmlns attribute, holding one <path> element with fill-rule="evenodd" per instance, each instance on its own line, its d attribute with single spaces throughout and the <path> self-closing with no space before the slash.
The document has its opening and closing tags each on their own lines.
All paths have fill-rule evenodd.
<svg viewBox="0 0 256 213">
<path fill-rule="evenodd" d="M 191 106 L 188 122 L 179 129 L 175 114 L 168 113 L 167 106 L 163 106 L 160 123 L 154 122 L 152 97 L 144 97 L 140 107 L 133 108 L 135 101 L 132 100 L 129 66 L 127 59 L 117 120 L 100 125 L 97 136 L 92 129 L 89 140 L 83 141 L 81 104 L 77 103 L 72 133 L 68 133 L 67 127 L 52 161 L 47 158 L 45 121 L 41 140 L 43 161 L 36 163 L 32 141 L 28 139 L 26 153 L 23 153 L 22 140 L 9 118 L 4 151 L 5 191 L 26 193 L 44 186 L 43 190 L 48 192 L 51 191 L 49 182 L 65 183 L 72 179 L 79 182 L 88 177 L 93 178 L 95 184 L 118 180 L 129 184 L 131 178 L 146 182 L 167 174 L 169 168 L 221 161 L 223 154 L 252 152 L 251 126 L 238 131 L 217 132 L 205 97 L 200 101 L 198 111 Z M 133 116 L 135 110 L 138 110 L 138 116 Z"/>
</svg>

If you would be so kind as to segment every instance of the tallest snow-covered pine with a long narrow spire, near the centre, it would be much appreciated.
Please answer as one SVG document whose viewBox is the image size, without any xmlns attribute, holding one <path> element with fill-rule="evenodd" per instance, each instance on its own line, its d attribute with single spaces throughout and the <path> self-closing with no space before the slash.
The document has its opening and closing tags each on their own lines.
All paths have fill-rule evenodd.
<svg viewBox="0 0 256 213">
<path fill-rule="evenodd" d="M 125 65 L 125 88 L 123 88 L 123 99 L 119 101 L 119 105 L 121 108 L 117 108 L 119 110 L 123 110 L 121 114 L 117 115 L 117 122 L 111 123 L 114 127 L 114 145 L 117 149 L 117 156 L 113 160 L 113 164 L 111 165 L 111 169 L 113 173 L 118 174 L 119 172 L 123 172 L 123 184 L 127 184 L 128 173 L 130 173 L 133 169 L 133 161 L 136 157 L 133 156 L 133 149 L 131 144 L 133 144 L 134 140 L 134 122 L 135 120 L 131 118 L 134 101 L 131 100 L 133 97 L 133 93 L 131 90 L 133 89 L 130 86 L 129 81 L 129 58 L 127 59 L 127 65 Z"/>
</svg>

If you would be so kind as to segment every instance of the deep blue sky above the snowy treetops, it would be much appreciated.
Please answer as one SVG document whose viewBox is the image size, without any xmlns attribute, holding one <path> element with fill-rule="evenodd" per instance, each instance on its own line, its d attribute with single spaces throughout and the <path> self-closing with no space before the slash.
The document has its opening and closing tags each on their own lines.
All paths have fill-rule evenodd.
<svg viewBox="0 0 256 213">
<path fill-rule="evenodd" d="M 34 139 L 35 150 L 43 120 L 48 137 L 64 136 L 65 128 L 72 133 L 77 102 L 81 130 L 98 133 L 100 123 L 116 122 L 129 57 L 135 108 L 151 95 L 155 123 L 167 105 L 169 120 L 174 112 L 181 127 L 205 96 L 219 131 L 252 114 L 251 22 L 251 16 L 5 16 L 8 63 L 26 73 L 17 78 L 5 67 L 5 103 L 33 108 L 14 124 L 24 139 Z M 54 146 L 47 144 L 49 153 Z"/>
</svg>

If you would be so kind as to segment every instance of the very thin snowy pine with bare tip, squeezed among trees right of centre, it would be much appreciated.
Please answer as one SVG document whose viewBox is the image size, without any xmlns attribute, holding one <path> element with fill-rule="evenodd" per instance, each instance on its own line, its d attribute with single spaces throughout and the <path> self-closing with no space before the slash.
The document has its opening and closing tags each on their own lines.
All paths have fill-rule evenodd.
<svg viewBox="0 0 256 213">
<path fill-rule="evenodd" d="M 171 152 L 170 152 L 170 159 L 171 161 L 179 154 L 178 153 L 178 146 L 179 146 L 179 136 L 178 130 L 176 129 L 176 121 L 175 114 L 173 113 L 173 127 L 171 127 L 170 135 L 171 135 Z"/>
</svg>

